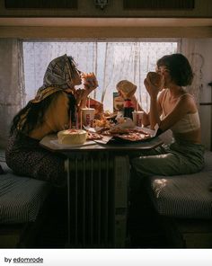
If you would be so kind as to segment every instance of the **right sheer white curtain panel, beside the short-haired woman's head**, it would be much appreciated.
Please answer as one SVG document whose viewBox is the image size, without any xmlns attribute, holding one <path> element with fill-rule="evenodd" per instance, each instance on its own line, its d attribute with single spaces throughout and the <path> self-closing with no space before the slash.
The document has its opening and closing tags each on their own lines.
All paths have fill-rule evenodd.
<svg viewBox="0 0 212 266">
<path fill-rule="evenodd" d="M 112 110 L 112 92 L 122 79 L 137 84 L 137 99 L 148 111 L 149 97 L 144 86 L 148 71 L 155 71 L 157 59 L 177 52 L 177 40 L 106 43 L 102 102 Z M 104 104 L 106 105 L 106 104 Z"/>
</svg>

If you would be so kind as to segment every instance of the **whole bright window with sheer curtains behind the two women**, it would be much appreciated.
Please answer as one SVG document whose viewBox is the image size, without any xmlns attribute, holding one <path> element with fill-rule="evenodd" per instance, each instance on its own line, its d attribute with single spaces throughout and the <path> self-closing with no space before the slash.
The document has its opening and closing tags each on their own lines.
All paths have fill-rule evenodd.
<svg viewBox="0 0 212 266">
<path fill-rule="evenodd" d="M 94 72 L 99 87 L 91 97 L 112 111 L 112 93 L 122 79 L 137 84 L 137 99 L 148 110 L 144 87 L 148 71 L 155 71 L 158 58 L 178 50 L 178 40 L 101 41 L 23 41 L 25 93 L 28 102 L 42 85 L 43 75 L 53 58 L 65 53 L 75 58 L 83 72 Z"/>
</svg>

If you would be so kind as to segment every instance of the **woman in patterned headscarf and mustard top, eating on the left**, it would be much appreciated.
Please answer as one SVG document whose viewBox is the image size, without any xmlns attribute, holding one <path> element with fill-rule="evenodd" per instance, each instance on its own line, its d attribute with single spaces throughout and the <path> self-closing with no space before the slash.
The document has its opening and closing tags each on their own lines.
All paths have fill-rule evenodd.
<svg viewBox="0 0 212 266">
<path fill-rule="evenodd" d="M 75 61 L 66 55 L 55 58 L 43 78 L 36 97 L 13 118 L 5 152 L 6 163 L 14 173 L 54 184 L 66 182 L 65 158 L 40 146 L 40 139 L 67 129 L 75 112 L 85 106 L 89 93 L 98 85 L 95 76 L 85 80 L 84 89 Z"/>
</svg>

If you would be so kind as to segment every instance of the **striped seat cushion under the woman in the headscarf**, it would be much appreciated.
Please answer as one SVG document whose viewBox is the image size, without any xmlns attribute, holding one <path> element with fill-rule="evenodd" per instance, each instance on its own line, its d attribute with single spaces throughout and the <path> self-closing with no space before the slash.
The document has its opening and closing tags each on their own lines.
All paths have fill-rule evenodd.
<svg viewBox="0 0 212 266">
<path fill-rule="evenodd" d="M 1 164 L 5 173 L 0 176 L 0 224 L 35 221 L 49 194 L 48 183 L 17 176 Z"/>
</svg>

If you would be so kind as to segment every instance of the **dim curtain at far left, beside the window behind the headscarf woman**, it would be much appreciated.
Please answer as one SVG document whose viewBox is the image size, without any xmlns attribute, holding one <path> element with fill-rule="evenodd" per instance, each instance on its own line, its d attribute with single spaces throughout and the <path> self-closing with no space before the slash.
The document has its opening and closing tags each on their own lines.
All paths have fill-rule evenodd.
<svg viewBox="0 0 212 266">
<path fill-rule="evenodd" d="M 22 107 L 22 42 L 0 39 L 0 146 L 4 147 L 13 116 Z"/>
</svg>

